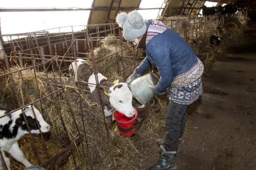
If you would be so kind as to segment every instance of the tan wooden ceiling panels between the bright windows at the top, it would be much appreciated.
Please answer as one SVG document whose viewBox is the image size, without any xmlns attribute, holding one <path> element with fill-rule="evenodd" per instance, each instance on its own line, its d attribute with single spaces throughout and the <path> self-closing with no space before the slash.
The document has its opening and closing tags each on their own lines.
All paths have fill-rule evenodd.
<svg viewBox="0 0 256 170">
<path fill-rule="evenodd" d="M 114 17 L 120 12 L 129 12 L 134 9 L 140 8 L 140 2 L 142 0 L 93 0 L 92 7 L 105 7 L 108 10 L 90 12 L 88 24 L 104 24 L 113 23 Z M 200 11 L 200 7 L 206 2 L 206 0 L 162 0 L 164 5 L 162 6 L 162 13 L 160 17 L 169 17 L 172 15 L 197 15 Z M 217 5 L 231 4 L 234 5 L 238 0 L 210 0 L 210 2 L 217 2 Z M 243 5 L 248 6 L 250 0 L 243 0 Z M 166 10 L 164 10 L 167 7 Z M 154 8 L 161 9 L 161 8 Z M 146 10 L 146 9 L 145 9 Z M 165 11 L 165 12 L 164 12 Z M 164 14 L 163 14 L 164 13 Z M 157 16 L 156 16 L 157 17 Z"/>
</svg>

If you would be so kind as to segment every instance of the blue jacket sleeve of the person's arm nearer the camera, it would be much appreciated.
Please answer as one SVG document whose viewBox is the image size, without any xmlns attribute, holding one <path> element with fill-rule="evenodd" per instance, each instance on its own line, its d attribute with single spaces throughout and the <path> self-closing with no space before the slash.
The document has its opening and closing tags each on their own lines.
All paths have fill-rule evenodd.
<svg viewBox="0 0 256 170">
<path fill-rule="evenodd" d="M 171 85 L 173 79 L 171 59 L 169 57 L 170 52 L 167 47 L 164 47 L 157 43 L 148 44 L 147 49 L 160 74 L 160 79 L 157 83 L 156 91 L 157 93 L 162 94 Z"/>
</svg>

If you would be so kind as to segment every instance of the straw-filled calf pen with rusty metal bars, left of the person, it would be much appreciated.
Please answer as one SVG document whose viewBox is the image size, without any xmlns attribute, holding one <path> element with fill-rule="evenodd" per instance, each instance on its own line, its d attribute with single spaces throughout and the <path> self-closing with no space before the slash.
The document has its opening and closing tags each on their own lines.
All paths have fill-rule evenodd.
<svg viewBox="0 0 256 170">
<path fill-rule="evenodd" d="M 144 57 L 119 35 L 121 28 L 117 24 L 89 25 L 77 32 L 70 27 L 69 32 L 0 35 L 8 40 L 3 43 L 6 56 L 0 70 L 1 107 L 13 110 L 11 114 L 33 104 L 51 125 L 47 134 L 25 135 L 19 140 L 32 165 L 100 169 L 101 164 L 92 162 L 106 158 L 109 151 L 104 148 L 113 147 L 116 137 L 109 135 L 103 106 L 93 103 L 84 88 L 89 83 L 75 82 L 68 68 L 73 61 L 83 59 L 92 64 L 94 73 L 99 71 L 109 82 L 116 76 L 126 80 Z M 92 85 L 100 90 L 97 76 Z M 114 133 L 119 134 L 117 128 Z M 10 162 L 11 169 L 24 169 L 13 158 Z"/>
</svg>

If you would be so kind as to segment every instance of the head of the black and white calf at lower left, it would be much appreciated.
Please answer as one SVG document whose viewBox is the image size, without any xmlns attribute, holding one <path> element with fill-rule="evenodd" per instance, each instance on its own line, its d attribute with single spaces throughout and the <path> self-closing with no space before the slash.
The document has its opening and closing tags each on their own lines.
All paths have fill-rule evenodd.
<svg viewBox="0 0 256 170">
<path fill-rule="evenodd" d="M 34 116 L 32 107 L 34 109 L 36 118 Z M 43 133 L 49 132 L 50 125 L 48 123 L 46 123 L 46 121 L 43 120 L 43 116 L 41 115 L 41 113 L 34 106 L 29 105 L 29 106 L 23 108 L 23 111 L 26 115 L 27 123 L 29 124 L 29 128 L 30 128 L 31 133 L 36 133 L 36 134 L 40 133 L 39 132 L 39 127 L 36 124 L 36 119 L 39 123 L 41 132 L 43 132 Z M 29 132 L 22 113 L 19 114 L 19 118 L 17 118 L 15 120 L 15 124 L 17 126 L 19 126 L 25 132 Z"/>
</svg>

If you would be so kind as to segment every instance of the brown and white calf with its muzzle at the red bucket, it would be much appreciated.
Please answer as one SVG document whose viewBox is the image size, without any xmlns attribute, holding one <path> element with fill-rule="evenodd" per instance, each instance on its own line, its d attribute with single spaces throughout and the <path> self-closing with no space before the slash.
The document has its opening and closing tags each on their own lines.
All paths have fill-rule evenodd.
<svg viewBox="0 0 256 170">
<path fill-rule="evenodd" d="M 77 59 L 78 60 L 78 59 Z M 72 66 L 74 68 L 74 72 L 72 71 Z M 70 65 L 69 73 L 75 73 L 75 80 L 82 80 L 88 83 L 96 84 L 96 79 L 93 71 L 90 72 L 89 78 L 85 74 L 88 72 L 84 71 L 84 68 L 90 67 L 91 64 L 85 60 L 79 59 L 77 64 L 72 62 L 72 66 Z M 81 76 L 80 76 L 81 75 Z M 132 117 L 135 115 L 135 110 L 132 106 L 133 94 L 130 91 L 127 83 L 124 83 L 121 77 L 116 77 L 118 83 L 114 84 L 112 82 L 107 82 L 107 78 L 103 76 L 101 73 L 97 74 L 99 85 L 101 86 L 101 99 L 104 105 L 104 114 L 106 117 L 112 116 L 113 109 L 115 108 L 117 111 L 125 114 L 127 117 Z M 87 90 L 91 92 L 91 97 L 93 102 L 100 104 L 98 90 L 96 89 L 96 85 L 87 85 Z M 107 93 L 105 93 L 105 92 Z"/>
</svg>

